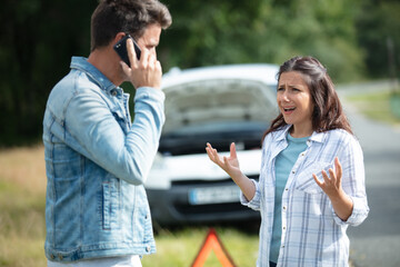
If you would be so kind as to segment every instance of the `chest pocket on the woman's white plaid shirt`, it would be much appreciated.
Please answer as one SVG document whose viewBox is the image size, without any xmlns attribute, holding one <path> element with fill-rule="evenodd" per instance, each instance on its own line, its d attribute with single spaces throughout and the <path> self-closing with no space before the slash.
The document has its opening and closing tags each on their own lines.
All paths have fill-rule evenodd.
<svg viewBox="0 0 400 267">
<path fill-rule="evenodd" d="M 333 165 L 330 162 L 312 162 L 301 170 L 296 178 L 296 189 L 304 191 L 307 194 L 322 194 L 322 189 L 317 185 L 316 180 L 312 177 L 314 174 L 320 181 L 323 180 L 321 171 L 324 170 L 329 175 L 329 168 L 333 169 Z"/>
</svg>

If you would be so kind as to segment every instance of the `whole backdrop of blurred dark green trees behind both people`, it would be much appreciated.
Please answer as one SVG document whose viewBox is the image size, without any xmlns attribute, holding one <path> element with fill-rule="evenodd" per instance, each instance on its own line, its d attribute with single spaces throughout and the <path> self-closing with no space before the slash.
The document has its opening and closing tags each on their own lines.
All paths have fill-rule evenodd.
<svg viewBox="0 0 400 267">
<path fill-rule="evenodd" d="M 173 23 L 158 49 L 163 70 L 319 58 L 336 82 L 398 76 L 396 0 L 163 0 Z M 0 147 L 38 142 L 47 97 L 89 55 L 97 0 L 3 0 Z M 127 90 L 134 90 L 124 85 Z"/>
</svg>

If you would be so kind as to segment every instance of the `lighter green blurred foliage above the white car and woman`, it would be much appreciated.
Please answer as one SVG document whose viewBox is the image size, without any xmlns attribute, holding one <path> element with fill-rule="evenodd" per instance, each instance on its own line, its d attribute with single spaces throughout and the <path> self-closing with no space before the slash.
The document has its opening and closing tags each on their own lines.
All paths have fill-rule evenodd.
<svg viewBox="0 0 400 267">
<path fill-rule="evenodd" d="M 339 81 L 358 79 L 363 53 L 356 38 L 359 1 L 166 0 L 173 23 L 161 40 L 164 68 L 282 63 L 310 55 Z"/>
</svg>

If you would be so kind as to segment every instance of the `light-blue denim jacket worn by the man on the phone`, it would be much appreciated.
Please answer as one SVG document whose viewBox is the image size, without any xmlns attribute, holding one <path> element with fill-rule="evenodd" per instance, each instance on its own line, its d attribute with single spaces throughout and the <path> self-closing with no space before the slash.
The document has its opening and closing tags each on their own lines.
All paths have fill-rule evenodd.
<svg viewBox="0 0 400 267">
<path fill-rule="evenodd" d="M 164 95 L 129 95 L 84 58 L 52 89 L 43 119 L 46 256 L 54 261 L 156 251 L 143 182 L 164 122 Z"/>
</svg>

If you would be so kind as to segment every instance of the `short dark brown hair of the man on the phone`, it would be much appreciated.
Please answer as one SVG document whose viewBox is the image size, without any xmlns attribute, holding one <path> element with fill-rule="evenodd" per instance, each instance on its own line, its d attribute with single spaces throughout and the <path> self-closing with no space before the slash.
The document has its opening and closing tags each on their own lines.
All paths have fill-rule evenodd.
<svg viewBox="0 0 400 267">
<path fill-rule="evenodd" d="M 118 32 L 140 38 L 149 24 L 167 29 L 172 23 L 168 8 L 158 0 L 101 0 L 91 17 L 91 48 L 104 47 Z"/>
</svg>

